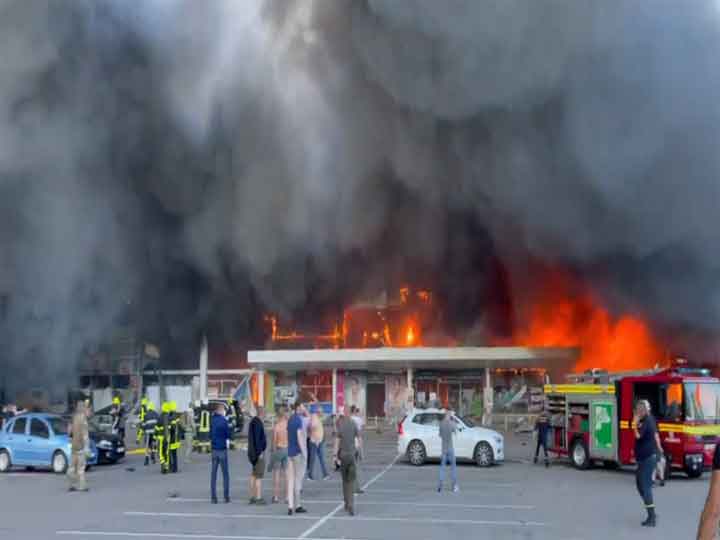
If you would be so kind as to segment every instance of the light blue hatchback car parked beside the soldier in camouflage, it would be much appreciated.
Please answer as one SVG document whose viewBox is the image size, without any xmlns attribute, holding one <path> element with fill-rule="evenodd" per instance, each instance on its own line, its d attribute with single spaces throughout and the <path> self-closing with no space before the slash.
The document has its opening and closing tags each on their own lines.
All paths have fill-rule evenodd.
<svg viewBox="0 0 720 540">
<path fill-rule="evenodd" d="M 61 416 L 28 413 L 12 418 L 0 430 L 0 473 L 13 467 L 49 468 L 63 474 L 70 463 L 69 424 Z M 90 441 L 87 465 L 97 464 L 98 451 Z"/>
</svg>

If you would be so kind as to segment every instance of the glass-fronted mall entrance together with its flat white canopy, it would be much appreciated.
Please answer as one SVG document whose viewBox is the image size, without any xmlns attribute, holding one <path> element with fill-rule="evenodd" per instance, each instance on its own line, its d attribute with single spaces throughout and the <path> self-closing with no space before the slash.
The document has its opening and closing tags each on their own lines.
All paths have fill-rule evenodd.
<svg viewBox="0 0 720 540">
<path fill-rule="evenodd" d="M 536 412 L 543 384 L 562 380 L 578 355 L 556 347 L 274 349 L 249 351 L 248 367 L 270 411 L 299 399 L 327 414 L 355 405 L 367 417 L 401 418 L 415 406 L 441 406 L 481 417 Z"/>
</svg>

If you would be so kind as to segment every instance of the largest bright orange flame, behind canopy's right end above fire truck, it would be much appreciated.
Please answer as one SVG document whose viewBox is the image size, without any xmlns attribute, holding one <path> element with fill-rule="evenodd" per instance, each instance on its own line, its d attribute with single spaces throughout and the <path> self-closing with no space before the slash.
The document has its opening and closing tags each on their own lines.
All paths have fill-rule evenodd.
<svg viewBox="0 0 720 540">
<path fill-rule="evenodd" d="M 512 337 L 528 347 L 580 347 L 575 371 L 647 369 L 662 363 L 663 347 L 648 324 L 634 315 L 613 316 L 576 278 L 548 272 Z"/>
</svg>

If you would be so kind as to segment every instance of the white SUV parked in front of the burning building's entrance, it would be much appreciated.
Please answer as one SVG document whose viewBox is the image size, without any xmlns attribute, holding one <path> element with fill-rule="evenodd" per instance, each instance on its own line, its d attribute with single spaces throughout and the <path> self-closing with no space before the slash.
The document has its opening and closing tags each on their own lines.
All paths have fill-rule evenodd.
<svg viewBox="0 0 720 540">
<path fill-rule="evenodd" d="M 444 413 L 439 409 L 414 409 L 398 424 L 398 452 L 407 456 L 413 465 L 427 459 L 439 459 L 440 421 Z M 497 431 L 475 425 L 466 418 L 452 416 L 457 425 L 453 437 L 455 457 L 468 459 L 480 467 L 489 467 L 505 459 L 503 436 Z"/>
</svg>

